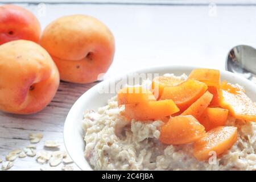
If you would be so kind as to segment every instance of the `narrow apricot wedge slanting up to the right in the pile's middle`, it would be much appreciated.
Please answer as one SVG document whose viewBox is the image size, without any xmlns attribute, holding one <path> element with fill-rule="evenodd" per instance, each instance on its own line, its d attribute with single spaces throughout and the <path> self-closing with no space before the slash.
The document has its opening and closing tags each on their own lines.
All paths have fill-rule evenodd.
<svg viewBox="0 0 256 182">
<path fill-rule="evenodd" d="M 193 115 L 196 119 L 200 118 L 210 104 L 212 97 L 213 95 L 210 92 L 205 92 L 203 96 L 189 106 L 181 115 Z"/>
</svg>

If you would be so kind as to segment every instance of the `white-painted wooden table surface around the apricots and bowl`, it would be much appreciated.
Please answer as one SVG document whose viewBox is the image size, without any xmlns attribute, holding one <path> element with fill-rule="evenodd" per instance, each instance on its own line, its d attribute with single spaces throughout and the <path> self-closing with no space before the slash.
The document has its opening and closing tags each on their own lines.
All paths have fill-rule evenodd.
<svg viewBox="0 0 256 182">
<path fill-rule="evenodd" d="M 256 47 L 256 3 L 218 2 L 210 6 L 208 1 L 201 1 L 199 5 L 189 3 L 189 6 L 184 1 L 170 5 L 45 3 L 45 14 L 38 3 L 19 5 L 38 16 L 42 28 L 70 14 L 88 14 L 102 20 L 112 30 L 116 42 L 114 62 L 105 76 L 109 78 L 134 69 L 167 64 L 225 69 L 229 49 L 237 44 Z M 53 101 L 37 114 L 0 112 L 0 159 L 11 150 L 27 146 L 29 133 L 44 134 L 38 150 L 42 150 L 43 141 L 49 139 L 59 140 L 61 150 L 65 150 L 65 117 L 77 98 L 93 85 L 61 82 Z M 27 157 L 16 159 L 11 169 L 38 170 L 40 167 L 35 158 Z"/>
</svg>

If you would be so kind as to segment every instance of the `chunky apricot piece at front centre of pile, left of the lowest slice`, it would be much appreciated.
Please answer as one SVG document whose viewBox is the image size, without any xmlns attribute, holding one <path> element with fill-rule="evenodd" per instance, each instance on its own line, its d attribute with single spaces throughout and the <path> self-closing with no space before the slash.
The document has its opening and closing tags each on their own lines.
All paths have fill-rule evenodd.
<svg viewBox="0 0 256 182">
<path fill-rule="evenodd" d="M 205 134 L 204 126 L 192 115 L 179 115 L 162 126 L 159 140 L 165 144 L 195 142 Z"/>
</svg>

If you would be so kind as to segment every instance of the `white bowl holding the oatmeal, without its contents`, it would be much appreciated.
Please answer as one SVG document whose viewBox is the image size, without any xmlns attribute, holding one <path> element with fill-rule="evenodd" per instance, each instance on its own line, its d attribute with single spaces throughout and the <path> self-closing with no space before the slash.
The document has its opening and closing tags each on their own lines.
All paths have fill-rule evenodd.
<svg viewBox="0 0 256 182">
<path fill-rule="evenodd" d="M 166 66 L 142 69 L 134 73 L 159 73 L 159 75 L 163 75 L 164 73 L 174 73 L 175 75 L 181 75 L 182 73 L 185 73 L 189 75 L 192 69 L 195 68 Z M 129 77 L 134 77 L 133 73 L 127 75 Z M 92 170 L 92 167 L 90 167 L 89 163 L 84 158 L 85 142 L 83 139 L 84 132 L 81 127 L 83 113 L 86 109 L 97 110 L 98 107 L 106 105 L 108 99 L 113 97 L 115 93 L 100 93 L 99 90 L 105 86 L 108 86 L 111 82 L 117 84 L 121 78 L 127 77 L 127 75 L 112 80 L 105 80 L 93 86 L 91 89 L 82 94 L 82 96 L 71 107 L 71 110 L 67 115 L 64 125 L 65 147 L 73 161 L 82 170 Z M 221 71 L 221 80 L 226 80 L 232 84 L 237 83 L 242 85 L 246 90 L 247 96 L 256 102 L 256 85 L 253 82 L 227 71 Z"/>
</svg>

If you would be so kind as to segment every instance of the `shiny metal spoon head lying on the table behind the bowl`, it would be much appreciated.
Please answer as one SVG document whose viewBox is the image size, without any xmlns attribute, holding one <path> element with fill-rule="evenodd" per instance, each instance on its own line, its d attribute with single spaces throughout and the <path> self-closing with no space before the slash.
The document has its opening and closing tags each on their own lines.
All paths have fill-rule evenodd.
<svg viewBox="0 0 256 182">
<path fill-rule="evenodd" d="M 226 59 L 226 70 L 254 80 L 256 78 L 256 49 L 246 45 L 233 47 Z"/>
</svg>

